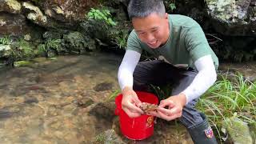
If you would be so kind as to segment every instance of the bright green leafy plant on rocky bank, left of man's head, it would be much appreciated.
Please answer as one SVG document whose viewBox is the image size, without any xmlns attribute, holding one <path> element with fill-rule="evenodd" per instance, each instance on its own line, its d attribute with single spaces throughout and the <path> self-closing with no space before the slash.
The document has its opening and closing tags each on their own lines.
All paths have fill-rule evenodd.
<svg viewBox="0 0 256 144">
<path fill-rule="evenodd" d="M 89 19 L 103 20 L 110 26 L 116 26 L 117 23 L 111 18 L 110 10 L 102 9 L 96 10 L 94 8 L 90 9 L 90 12 L 86 16 Z"/>
</svg>

